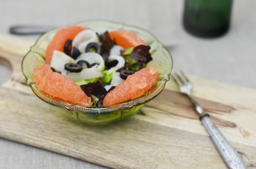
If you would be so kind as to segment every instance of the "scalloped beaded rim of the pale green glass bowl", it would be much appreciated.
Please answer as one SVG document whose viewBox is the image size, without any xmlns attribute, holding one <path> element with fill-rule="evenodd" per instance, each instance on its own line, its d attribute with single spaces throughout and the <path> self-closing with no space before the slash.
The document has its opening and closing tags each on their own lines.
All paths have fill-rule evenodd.
<svg viewBox="0 0 256 169">
<path fill-rule="evenodd" d="M 89 20 L 89 21 L 84 21 L 84 22 L 79 22 L 79 23 L 75 23 L 75 24 L 72 24 L 72 25 L 79 25 L 79 24 L 83 24 L 83 23 L 86 23 L 86 22 L 107 22 L 107 23 L 111 23 L 111 24 L 121 24 L 121 23 L 116 23 L 116 22 L 110 22 L 110 21 L 105 21 L 105 20 Z M 134 26 L 130 26 L 130 25 L 127 25 L 127 24 L 121 24 L 125 27 L 132 27 L 132 28 L 136 28 L 142 32 L 147 32 L 149 33 L 152 37 L 154 37 L 154 35 L 152 35 L 150 32 L 148 32 L 147 30 L 144 30 L 144 29 L 141 29 L 141 28 L 137 28 L 137 27 L 134 27 Z M 60 27 L 61 28 L 61 27 Z M 57 28 L 57 29 L 60 29 L 60 28 Z M 92 108 L 92 107 L 83 107 L 83 106 L 79 106 L 79 105 L 71 105 L 69 103 L 65 103 L 65 102 L 61 102 L 61 101 L 55 101 L 55 100 L 52 100 L 51 98 L 49 98 L 48 96 L 46 96 L 45 94 L 41 93 L 40 90 L 37 89 L 37 86 L 36 84 L 34 83 L 34 81 L 29 78 L 28 75 L 26 75 L 26 73 L 24 73 L 23 71 L 23 61 L 24 59 L 27 57 L 27 55 L 33 53 L 33 52 L 36 52 L 36 49 L 37 46 L 39 45 L 38 43 L 40 42 L 40 40 L 44 37 L 47 37 L 48 35 L 50 35 L 52 32 L 55 32 L 57 29 L 53 29 L 51 30 L 50 32 L 46 32 L 45 34 L 42 34 L 40 38 L 38 38 L 37 42 L 35 43 L 35 45 L 33 45 L 31 47 L 31 49 L 29 50 L 29 52 L 24 56 L 23 60 L 22 60 L 22 73 L 23 75 L 25 76 L 25 78 L 27 79 L 27 84 L 29 86 L 31 86 L 31 89 L 33 91 L 33 93 L 35 93 L 35 95 L 38 96 L 38 98 L 40 98 L 41 100 L 45 101 L 46 103 L 48 104 L 51 104 L 53 106 L 58 106 L 58 107 L 63 107 L 67 110 L 75 110 L 75 111 L 80 111 L 80 112 L 83 112 L 83 113 L 87 113 L 87 114 L 94 114 L 94 115 L 105 115 L 105 114 L 110 114 L 111 112 L 114 112 L 114 111 L 120 111 L 120 110 L 124 110 L 124 109 L 131 109 L 132 107 L 134 106 L 137 106 L 137 105 L 141 105 L 141 104 L 145 104 L 147 103 L 148 101 L 154 99 L 157 95 L 159 95 L 161 93 L 161 91 L 164 89 L 165 87 L 165 84 L 167 81 L 169 81 L 169 75 L 171 73 L 171 70 L 173 69 L 173 58 L 171 57 L 171 54 L 169 53 L 168 50 L 166 50 L 163 46 L 162 43 L 159 42 L 159 40 L 157 40 L 157 38 L 154 37 L 155 39 L 155 42 L 159 45 L 157 46 L 158 48 L 159 47 L 162 47 L 163 50 L 166 50 L 166 52 L 169 54 L 169 57 L 170 57 L 170 60 L 171 60 L 171 67 L 169 70 L 166 70 L 164 75 L 163 75 L 163 79 L 159 80 L 160 81 L 160 84 L 157 86 L 157 88 L 152 92 L 150 93 L 149 95 L 146 95 L 146 96 L 142 96 L 138 99 L 133 99 L 133 100 L 130 100 L 130 101 L 127 101 L 125 103 L 121 103 L 117 106 L 111 106 L 111 107 L 102 107 L 102 108 Z M 37 53 L 38 54 L 38 53 Z M 158 82 L 159 82 L 158 81 Z"/>
</svg>

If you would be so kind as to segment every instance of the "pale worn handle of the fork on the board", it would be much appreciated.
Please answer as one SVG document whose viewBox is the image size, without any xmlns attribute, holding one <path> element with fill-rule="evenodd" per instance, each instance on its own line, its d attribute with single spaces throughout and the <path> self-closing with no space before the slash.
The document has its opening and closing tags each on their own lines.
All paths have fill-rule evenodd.
<svg viewBox="0 0 256 169">
<path fill-rule="evenodd" d="M 247 168 L 238 155 L 237 151 L 229 144 L 228 140 L 225 139 L 223 134 L 214 125 L 209 116 L 203 116 L 201 118 L 205 129 L 208 131 L 211 139 L 213 140 L 216 148 L 218 149 L 221 157 L 230 169 L 245 169 Z"/>
</svg>

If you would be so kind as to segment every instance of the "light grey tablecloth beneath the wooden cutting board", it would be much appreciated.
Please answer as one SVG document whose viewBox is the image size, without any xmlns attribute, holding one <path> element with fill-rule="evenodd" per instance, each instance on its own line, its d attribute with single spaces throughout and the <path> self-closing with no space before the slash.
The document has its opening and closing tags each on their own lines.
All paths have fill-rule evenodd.
<svg viewBox="0 0 256 169">
<path fill-rule="evenodd" d="M 109 19 L 150 30 L 171 45 L 174 69 L 203 78 L 256 88 L 256 1 L 235 1 L 232 27 L 217 39 L 199 39 L 181 25 L 183 1 L 0 1 L 0 33 L 13 24 L 65 25 Z M 0 66 L 0 83 L 10 73 Z M 195 86 L 196 88 L 196 86 Z M 0 168 L 103 168 L 74 158 L 0 139 Z"/>
</svg>

